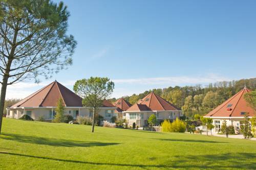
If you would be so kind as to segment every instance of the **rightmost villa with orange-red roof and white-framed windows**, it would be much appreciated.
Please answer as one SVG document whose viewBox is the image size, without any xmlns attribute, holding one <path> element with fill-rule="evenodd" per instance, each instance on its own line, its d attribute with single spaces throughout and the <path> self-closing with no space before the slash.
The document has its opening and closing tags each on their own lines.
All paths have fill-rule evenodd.
<svg viewBox="0 0 256 170">
<path fill-rule="evenodd" d="M 214 132 L 219 132 L 224 120 L 227 126 L 233 126 L 236 132 L 240 131 L 240 125 L 244 120 L 244 115 L 249 114 L 249 118 L 255 116 L 255 111 L 248 106 L 244 99 L 244 95 L 250 92 L 246 87 L 232 96 L 226 102 L 206 114 L 204 117 L 210 117 L 214 121 Z"/>
</svg>

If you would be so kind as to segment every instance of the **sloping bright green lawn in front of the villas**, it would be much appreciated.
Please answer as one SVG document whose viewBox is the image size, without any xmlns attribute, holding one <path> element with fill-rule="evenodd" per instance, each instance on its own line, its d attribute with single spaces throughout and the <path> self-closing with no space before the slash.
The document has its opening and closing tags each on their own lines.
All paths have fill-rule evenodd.
<svg viewBox="0 0 256 170">
<path fill-rule="evenodd" d="M 256 141 L 3 120 L 0 169 L 256 169 Z"/>
</svg>

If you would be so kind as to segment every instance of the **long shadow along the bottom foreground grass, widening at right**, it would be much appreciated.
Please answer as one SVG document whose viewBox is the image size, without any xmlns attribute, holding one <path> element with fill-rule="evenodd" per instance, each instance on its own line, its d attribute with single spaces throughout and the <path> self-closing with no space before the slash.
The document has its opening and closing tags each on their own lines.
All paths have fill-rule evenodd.
<svg viewBox="0 0 256 170">
<path fill-rule="evenodd" d="M 30 157 L 35 159 L 45 159 L 54 161 L 63 161 L 65 163 L 82 163 L 90 165 L 109 165 L 120 167 L 136 167 L 143 169 L 256 169 L 256 156 L 254 153 L 227 153 L 219 155 L 188 155 L 188 156 L 174 156 L 174 160 L 168 160 L 164 164 L 123 164 L 123 163 L 104 163 L 104 162 L 90 162 L 80 160 L 66 160 L 59 158 L 49 158 L 41 156 L 32 156 L 17 153 L 0 152 L 0 154 Z M 100 168 L 100 167 L 99 167 Z"/>
</svg>

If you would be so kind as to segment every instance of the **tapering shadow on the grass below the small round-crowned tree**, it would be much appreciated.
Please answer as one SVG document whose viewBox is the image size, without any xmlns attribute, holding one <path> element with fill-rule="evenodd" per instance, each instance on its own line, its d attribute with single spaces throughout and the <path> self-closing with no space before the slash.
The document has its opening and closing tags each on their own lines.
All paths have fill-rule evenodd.
<svg viewBox="0 0 256 170">
<path fill-rule="evenodd" d="M 103 147 L 107 145 L 115 145 L 120 143 L 104 143 L 96 141 L 78 141 L 78 140 L 66 140 L 66 139 L 55 139 L 55 138 L 45 138 L 36 136 L 23 136 L 17 134 L 3 133 L 4 136 L 0 136 L 2 139 L 15 140 L 24 143 L 35 143 L 35 144 L 45 144 L 54 147 Z"/>
</svg>

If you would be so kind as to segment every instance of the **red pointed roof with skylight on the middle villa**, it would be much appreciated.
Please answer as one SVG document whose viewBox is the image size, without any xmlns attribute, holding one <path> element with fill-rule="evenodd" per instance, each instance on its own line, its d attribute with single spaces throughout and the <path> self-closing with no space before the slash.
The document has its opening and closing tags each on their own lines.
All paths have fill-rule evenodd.
<svg viewBox="0 0 256 170">
<path fill-rule="evenodd" d="M 181 110 L 173 104 L 167 102 L 154 92 L 146 95 L 145 98 L 127 109 L 127 111 L 164 111 Z"/>
</svg>

